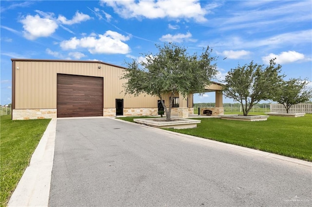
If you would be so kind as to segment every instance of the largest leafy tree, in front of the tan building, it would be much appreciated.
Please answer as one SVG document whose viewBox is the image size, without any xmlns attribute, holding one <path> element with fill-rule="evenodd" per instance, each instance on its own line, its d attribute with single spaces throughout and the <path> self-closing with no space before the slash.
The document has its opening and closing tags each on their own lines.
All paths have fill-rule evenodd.
<svg viewBox="0 0 312 207">
<path fill-rule="evenodd" d="M 193 92 L 203 93 L 217 73 L 213 64 L 216 57 L 211 56 L 212 49 L 209 47 L 200 55 L 190 55 L 186 48 L 173 43 L 156 47 L 158 52 L 146 53 L 145 61 L 127 62 L 122 79 L 127 80 L 125 93 L 157 96 L 166 112 L 166 121 L 170 121 L 175 93 L 179 92 L 184 97 Z M 163 102 L 165 94 L 170 94 L 169 108 Z"/>
</svg>

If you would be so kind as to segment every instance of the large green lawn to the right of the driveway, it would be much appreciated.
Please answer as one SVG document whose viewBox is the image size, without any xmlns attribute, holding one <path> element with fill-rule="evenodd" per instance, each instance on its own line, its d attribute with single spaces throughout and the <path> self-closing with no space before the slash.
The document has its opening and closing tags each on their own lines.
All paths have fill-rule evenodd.
<svg viewBox="0 0 312 207">
<path fill-rule="evenodd" d="M 195 129 L 167 130 L 312 161 L 312 114 L 297 118 L 272 116 L 268 121 L 250 122 L 215 118 L 197 120 L 201 123 Z"/>
</svg>

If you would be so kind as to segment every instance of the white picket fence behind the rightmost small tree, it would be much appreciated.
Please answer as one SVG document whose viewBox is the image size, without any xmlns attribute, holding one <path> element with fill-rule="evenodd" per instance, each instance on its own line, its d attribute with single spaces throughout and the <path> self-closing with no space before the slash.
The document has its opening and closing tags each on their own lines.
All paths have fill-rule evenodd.
<svg viewBox="0 0 312 207">
<path fill-rule="evenodd" d="M 270 104 L 270 112 L 286 113 L 283 104 Z M 289 113 L 307 113 L 312 114 L 312 104 L 296 104 L 292 105 Z"/>
</svg>

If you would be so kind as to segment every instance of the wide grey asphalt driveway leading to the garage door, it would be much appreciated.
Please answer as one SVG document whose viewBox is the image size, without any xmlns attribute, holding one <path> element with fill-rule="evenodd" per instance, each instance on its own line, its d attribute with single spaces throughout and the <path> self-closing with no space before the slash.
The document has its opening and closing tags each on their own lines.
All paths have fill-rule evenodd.
<svg viewBox="0 0 312 207">
<path fill-rule="evenodd" d="M 312 206 L 312 172 L 114 119 L 58 120 L 49 206 Z"/>
</svg>

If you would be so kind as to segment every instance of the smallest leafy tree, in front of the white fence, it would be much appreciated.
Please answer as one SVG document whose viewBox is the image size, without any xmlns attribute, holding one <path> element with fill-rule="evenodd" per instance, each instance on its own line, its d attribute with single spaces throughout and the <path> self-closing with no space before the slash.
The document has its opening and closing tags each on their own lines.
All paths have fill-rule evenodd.
<svg viewBox="0 0 312 207">
<path fill-rule="evenodd" d="M 283 104 L 286 112 L 289 113 L 292 105 L 308 102 L 312 98 L 312 89 L 308 88 L 308 84 L 307 79 L 301 80 L 300 78 L 284 81 L 273 101 Z"/>
</svg>

